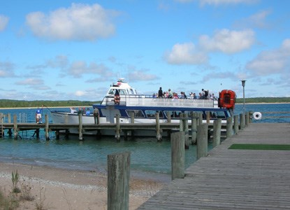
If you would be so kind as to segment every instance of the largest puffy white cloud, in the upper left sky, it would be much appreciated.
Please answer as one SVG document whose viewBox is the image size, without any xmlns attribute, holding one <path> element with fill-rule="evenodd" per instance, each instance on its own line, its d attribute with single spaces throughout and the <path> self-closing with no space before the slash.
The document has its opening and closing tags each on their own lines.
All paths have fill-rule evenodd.
<svg viewBox="0 0 290 210">
<path fill-rule="evenodd" d="M 115 34 L 115 25 L 111 22 L 113 14 L 97 3 L 92 6 L 72 3 L 69 8 L 59 8 L 49 14 L 29 13 L 26 22 L 38 37 L 94 41 Z"/>
</svg>

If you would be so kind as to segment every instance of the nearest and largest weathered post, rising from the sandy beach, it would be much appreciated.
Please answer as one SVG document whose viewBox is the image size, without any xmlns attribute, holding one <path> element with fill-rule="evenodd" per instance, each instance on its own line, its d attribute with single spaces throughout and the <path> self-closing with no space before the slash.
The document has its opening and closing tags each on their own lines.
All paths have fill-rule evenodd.
<svg viewBox="0 0 290 210">
<path fill-rule="evenodd" d="M 130 152 L 108 155 L 108 210 L 129 209 Z"/>
</svg>

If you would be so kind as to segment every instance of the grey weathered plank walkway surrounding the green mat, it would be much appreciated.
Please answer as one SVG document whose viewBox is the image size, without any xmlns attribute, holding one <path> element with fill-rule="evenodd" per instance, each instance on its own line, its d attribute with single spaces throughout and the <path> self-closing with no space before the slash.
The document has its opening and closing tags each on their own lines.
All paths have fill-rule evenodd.
<svg viewBox="0 0 290 210">
<path fill-rule="evenodd" d="M 290 151 L 231 150 L 231 144 L 290 144 L 290 123 L 250 124 L 139 209 L 290 209 Z"/>
</svg>

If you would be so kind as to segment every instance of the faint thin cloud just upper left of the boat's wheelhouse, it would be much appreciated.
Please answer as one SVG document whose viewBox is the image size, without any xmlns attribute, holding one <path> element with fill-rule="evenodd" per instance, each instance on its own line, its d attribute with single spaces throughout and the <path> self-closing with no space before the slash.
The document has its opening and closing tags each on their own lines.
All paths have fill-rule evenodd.
<svg viewBox="0 0 290 210">
<path fill-rule="evenodd" d="M 103 64 L 96 64 L 95 62 L 91 62 L 87 65 L 86 62 L 78 61 L 73 62 L 71 66 L 68 67 L 68 74 L 75 78 L 82 76 L 84 73 L 99 74 L 104 77 L 113 75 L 106 66 Z"/>
</svg>

